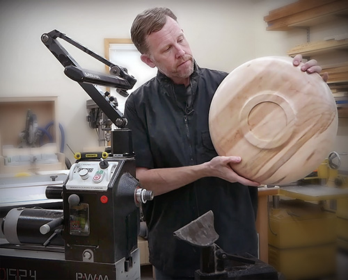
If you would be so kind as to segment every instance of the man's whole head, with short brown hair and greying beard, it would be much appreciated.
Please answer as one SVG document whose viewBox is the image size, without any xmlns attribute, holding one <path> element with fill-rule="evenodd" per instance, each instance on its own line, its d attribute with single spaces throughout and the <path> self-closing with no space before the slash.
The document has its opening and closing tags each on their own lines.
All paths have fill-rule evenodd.
<svg viewBox="0 0 348 280">
<path fill-rule="evenodd" d="M 193 56 L 177 18 L 168 8 L 152 8 L 139 14 L 132 24 L 132 41 L 141 60 L 171 78 L 189 84 Z"/>
</svg>

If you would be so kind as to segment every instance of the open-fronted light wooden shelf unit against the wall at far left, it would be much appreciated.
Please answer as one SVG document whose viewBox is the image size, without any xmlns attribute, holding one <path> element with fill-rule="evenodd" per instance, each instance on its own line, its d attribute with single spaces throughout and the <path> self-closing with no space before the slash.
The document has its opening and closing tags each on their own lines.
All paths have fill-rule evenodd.
<svg viewBox="0 0 348 280">
<path fill-rule="evenodd" d="M 57 97 L 0 98 L 1 174 L 65 169 L 65 156 L 58 152 L 61 140 L 57 137 L 56 104 Z M 47 135 L 44 135 L 40 147 L 27 147 L 23 144 L 22 136 L 19 135 L 26 129 L 26 114 L 29 109 L 36 116 L 38 128 L 49 131 L 52 143 L 44 145 L 49 142 Z M 56 158 L 48 157 L 53 154 L 56 154 Z M 12 159 L 8 161 L 8 158 L 16 158 L 18 161 L 15 164 Z"/>
</svg>

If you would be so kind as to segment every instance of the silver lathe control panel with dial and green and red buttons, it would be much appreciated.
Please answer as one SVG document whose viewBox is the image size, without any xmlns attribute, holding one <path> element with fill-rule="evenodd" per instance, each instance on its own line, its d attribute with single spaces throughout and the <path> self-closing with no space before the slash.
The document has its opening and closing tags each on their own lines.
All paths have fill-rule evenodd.
<svg viewBox="0 0 348 280">
<path fill-rule="evenodd" d="M 88 161 L 74 163 L 70 168 L 67 190 L 107 190 L 118 162 Z"/>
</svg>

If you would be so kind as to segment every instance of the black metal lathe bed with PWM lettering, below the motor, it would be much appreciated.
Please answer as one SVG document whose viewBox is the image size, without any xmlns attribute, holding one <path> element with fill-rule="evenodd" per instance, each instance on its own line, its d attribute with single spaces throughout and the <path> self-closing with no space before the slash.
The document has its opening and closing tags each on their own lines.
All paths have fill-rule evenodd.
<svg viewBox="0 0 348 280">
<path fill-rule="evenodd" d="M 65 261 L 63 247 L 58 248 L 58 250 L 50 249 L 49 251 L 36 251 L 32 249 L 12 249 L 1 246 L 0 279 L 140 279 L 139 249 L 132 252 L 132 267 L 129 267 L 129 263 L 124 258 L 117 263 Z"/>
</svg>

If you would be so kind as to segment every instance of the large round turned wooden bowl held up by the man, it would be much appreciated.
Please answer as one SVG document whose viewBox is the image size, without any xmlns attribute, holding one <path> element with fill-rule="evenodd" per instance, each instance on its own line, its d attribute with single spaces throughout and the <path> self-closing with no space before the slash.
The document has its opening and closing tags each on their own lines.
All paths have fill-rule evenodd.
<svg viewBox="0 0 348 280">
<path fill-rule="evenodd" d="M 263 57 L 230 72 L 209 109 L 209 131 L 220 156 L 240 176 L 285 185 L 310 174 L 329 156 L 338 129 L 330 88 L 292 58 Z"/>
</svg>

